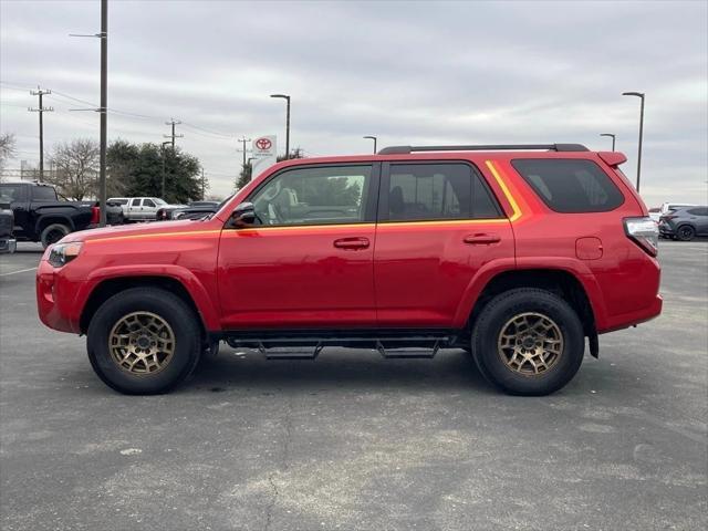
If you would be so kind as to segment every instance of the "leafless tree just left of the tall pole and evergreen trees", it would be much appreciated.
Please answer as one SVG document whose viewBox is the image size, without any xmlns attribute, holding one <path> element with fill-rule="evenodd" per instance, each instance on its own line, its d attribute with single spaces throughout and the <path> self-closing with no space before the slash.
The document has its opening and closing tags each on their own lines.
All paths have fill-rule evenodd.
<svg viewBox="0 0 708 531">
<path fill-rule="evenodd" d="M 56 186 L 63 196 L 77 201 L 95 195 L 98 154 L 98 143 L 90 138 L 58 144 L 52 154 L 54 171 L 44 180 Z"/>
</svg>

